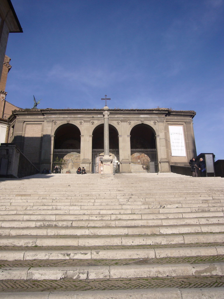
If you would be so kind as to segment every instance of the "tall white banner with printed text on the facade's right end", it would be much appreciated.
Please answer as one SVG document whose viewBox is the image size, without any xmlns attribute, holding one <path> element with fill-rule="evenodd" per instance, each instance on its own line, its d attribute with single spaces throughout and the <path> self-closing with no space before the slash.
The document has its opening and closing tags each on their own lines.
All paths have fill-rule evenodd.
<svg viewBox="0 0 224 299">
<path fill-rule="evenodd" d="M 171 155 L 185 157 L 184 133 L 182 126 L 169 126 Z"/>
</svg>

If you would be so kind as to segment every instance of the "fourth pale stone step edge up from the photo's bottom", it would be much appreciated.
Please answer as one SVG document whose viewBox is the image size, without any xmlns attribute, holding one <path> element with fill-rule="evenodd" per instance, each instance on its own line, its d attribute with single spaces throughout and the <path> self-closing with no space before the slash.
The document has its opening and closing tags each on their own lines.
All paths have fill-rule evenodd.
<svg viewBox="0 0 224 299">
<path fill-rule="evenodd" d="M 165 245 L 224 242 L 223 233 L 167 234 L 131 236 L 0 236 L 0 246 L 111 246 L 111 245 Z"/>
</svg>

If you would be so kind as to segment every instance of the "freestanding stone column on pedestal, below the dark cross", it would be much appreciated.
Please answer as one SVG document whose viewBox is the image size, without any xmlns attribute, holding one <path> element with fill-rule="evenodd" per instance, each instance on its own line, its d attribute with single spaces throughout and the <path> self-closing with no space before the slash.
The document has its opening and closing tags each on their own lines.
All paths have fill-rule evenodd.
<svg viewBox="0 0 224 299">
<path fill-rule="evenodd" d="M 108 109 L 107 106 L 104 110 Z M 103 173 L 111 173 L 111 163 L 112 159 L 109 155 L 109 114 L 110 112 L 103 112 L 104 115 L 104 156 L 102 158 Z"/>
</svg>

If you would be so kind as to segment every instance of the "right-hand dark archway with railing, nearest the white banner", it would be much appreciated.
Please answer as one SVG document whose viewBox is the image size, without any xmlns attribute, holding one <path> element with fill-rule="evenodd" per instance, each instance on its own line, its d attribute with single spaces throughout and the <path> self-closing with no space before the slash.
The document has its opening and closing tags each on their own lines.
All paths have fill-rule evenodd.
<svg viewBox="0 0 224 299">
<path fill-rule="evenodd" d="M 131 129 L 131 172 L 158 172 L 155 133 L 149 125 L 138 124 Z"/>
</svg>

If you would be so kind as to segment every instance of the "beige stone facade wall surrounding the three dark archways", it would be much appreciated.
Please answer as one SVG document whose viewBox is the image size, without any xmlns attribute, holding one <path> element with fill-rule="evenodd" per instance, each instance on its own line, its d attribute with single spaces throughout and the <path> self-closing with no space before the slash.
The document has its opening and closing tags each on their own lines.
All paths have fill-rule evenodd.
<svg viewBox="0 0 224 299">
<path fill-rule="evenodd" d="M 91 172 L 93 136 L 94 132 L 103 126 L 103 111 L 102 109 L 23 109 L 13 111 L 13 115 L 10 117 L 8 142 L 15 143 L 37 168 L 43 169 L 52 164 L 53 149 L 58 132 L 60 132 L 60 136 L 66 136 L 67 132 L 74 131 L 80 138 L 80 164 L 85 164 L 87 172 Z M 139 130 L 142 130 L 141 125 L 150 128 L 151 135 L 154 136 L 153 148 L 157 150 L 159 172 L 170 172 L 170 164 L 187 166 L 191 156 L 196 155 L 192 122 L 196 114 L 194 111 L 170 111 L 165 108 L 108 109 L 108 111 L 110 112 L 109 126 L 116 132 L 116 136 L 110 135 L 113 136 L 113 139 L 109 138 L 111 141 L 118 138 L 121 173 L 131 172 L 132 129 L 139 127 Z M 171 155 L 168 128 L 170 125 L 183 127 L 185 156 Z M 61 140 L 61 142 L 66 143 L 65 140 Z"/>
</svg>

